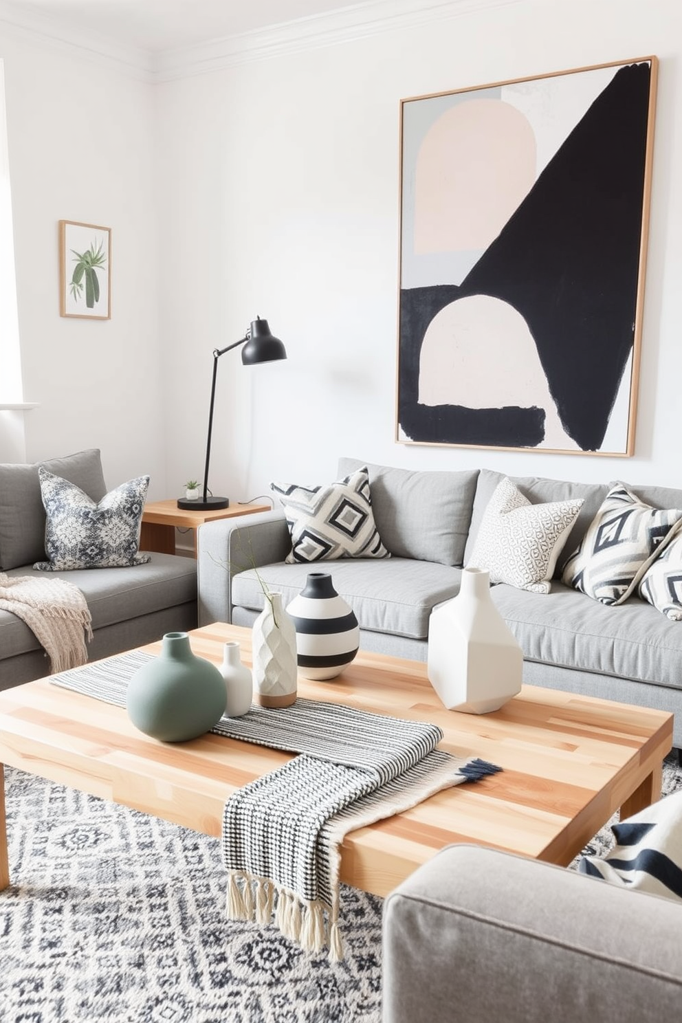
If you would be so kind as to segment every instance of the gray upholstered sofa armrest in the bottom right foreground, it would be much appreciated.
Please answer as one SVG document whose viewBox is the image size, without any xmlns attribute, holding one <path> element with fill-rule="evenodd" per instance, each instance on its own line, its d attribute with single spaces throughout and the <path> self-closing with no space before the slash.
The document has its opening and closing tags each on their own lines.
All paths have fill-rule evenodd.
<svg viewBox="0 0 682 1023">
<path fill-rule="evenodd" d="M 679 902 L 450 846 L 387 899 L 383 1023 L 677 1018 L 681 928 Z"/>
</svg>

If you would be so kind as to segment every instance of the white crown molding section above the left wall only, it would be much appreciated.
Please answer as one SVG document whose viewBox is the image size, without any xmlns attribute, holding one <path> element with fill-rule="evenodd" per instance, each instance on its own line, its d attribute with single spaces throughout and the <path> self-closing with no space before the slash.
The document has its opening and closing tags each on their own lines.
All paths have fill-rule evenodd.
<svg viewBox="0 0 682 1023">
<path fill-rule="evenodd" d="M 98 66 L 141 81 L 154 80 L 153 54 L 134 46 L 112 43 L 99 33 L 78 29 L 59 18 L 38 14 L 18 4 L 0 0 L 0 36 L 45 46 L 69 56 L 94 60 Z"/>
</svg>

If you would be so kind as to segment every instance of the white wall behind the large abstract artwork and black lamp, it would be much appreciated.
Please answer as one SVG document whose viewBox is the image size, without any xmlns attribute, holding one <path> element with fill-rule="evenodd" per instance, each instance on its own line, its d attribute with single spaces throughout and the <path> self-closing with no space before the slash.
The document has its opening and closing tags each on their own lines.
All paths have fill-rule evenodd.
<svg viewBox="0 0 682 1023">
<path fill-rule="evenodd" d="M 158 86 L 171 492 L 202 474 L 212 350 L 256 314 L 289 359 L 221 359 L 217 493 L 323 482 L 338 455 L 682 486 L 681 11 L 522 0 Z M 635 457 L 397 444 L 400 99 L 649 54 L 661 66 Z"/>
</svg>

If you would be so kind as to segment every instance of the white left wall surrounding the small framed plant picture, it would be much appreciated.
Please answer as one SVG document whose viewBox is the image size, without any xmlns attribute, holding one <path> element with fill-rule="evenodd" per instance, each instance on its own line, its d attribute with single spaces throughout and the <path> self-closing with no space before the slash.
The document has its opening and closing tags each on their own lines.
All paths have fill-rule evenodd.
<svg viewBox="0 0 682 1023">
<path fill-rule="evenodd" d="M 24 396 L 40 403 L 27 457 L 99 447 L 109 486 L 149 473 L 165 496 L 153 89 L 4 24 L 0 55 Z M 59 316 L 60 219 L 112 229 L 110 320 Z"/>
</svg>

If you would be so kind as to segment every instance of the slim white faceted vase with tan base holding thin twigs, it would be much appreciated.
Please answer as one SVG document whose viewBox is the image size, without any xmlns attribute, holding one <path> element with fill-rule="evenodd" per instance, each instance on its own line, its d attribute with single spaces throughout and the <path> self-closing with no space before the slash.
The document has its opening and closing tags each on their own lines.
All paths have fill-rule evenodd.
<svg viewBox="0 0 682 1023">
<path fill-rule="evenodd" d="M 266 598 L 254 622 L 252 641 L 257 702 L 262 707 L 288 707 L 297 697 L 295 629 L 282 608 L 281 593 Z"/>
</svg>

